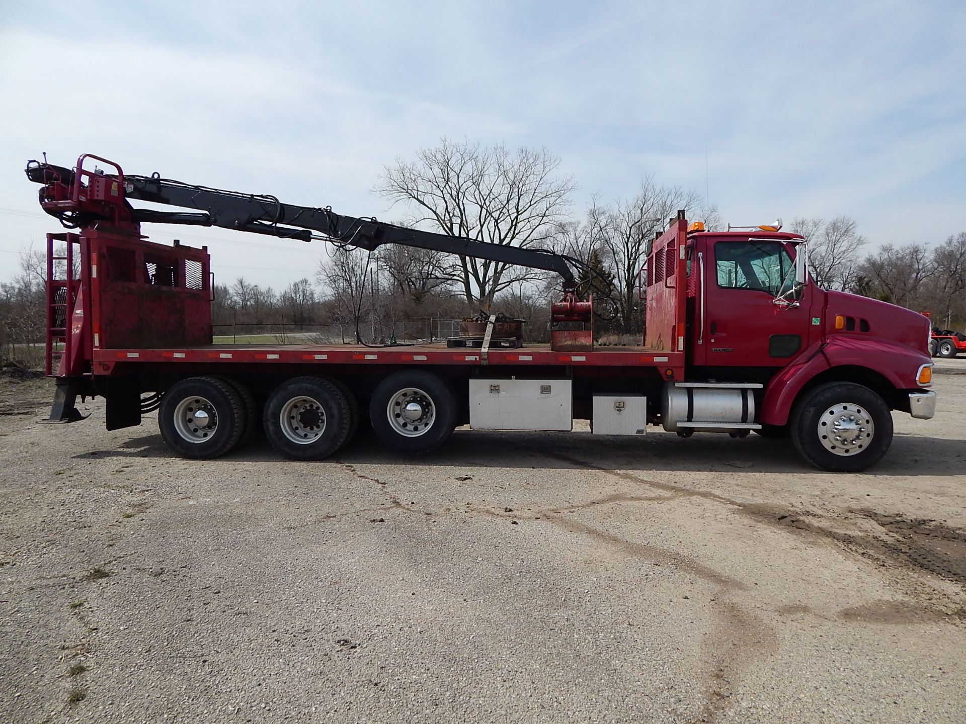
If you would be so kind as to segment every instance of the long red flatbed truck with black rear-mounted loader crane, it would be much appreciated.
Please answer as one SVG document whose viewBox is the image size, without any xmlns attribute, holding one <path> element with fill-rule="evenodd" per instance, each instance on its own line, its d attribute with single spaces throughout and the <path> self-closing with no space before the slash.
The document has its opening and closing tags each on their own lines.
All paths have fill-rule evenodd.
<svg viewBox="0 0 966 724">
<path fill-rule="evenodd" d="M 112 173 L 89 170 L 100 161 Z M 292 459 L 324 459 L 368 418 L 386 445 L 427 453 L 459 425 L 482 430 L 791 437 L 830 471 L 881 459 L 891 410 L 932 417 L 929 322 L 892 304 L 817 288 L 805 239 L 771 226 L 705 232 L 684 211 L 650 244 L 640 345 L 595 348 L 580 260 L 299 207 L 273 196 L 126 175 L 85 154 L 72 168 L 31 161 L 41 207 L 71 230 L 47 235 L 50 421 L 106 401 L 108 430 L 158 410 L 186 458 L 224 455 L 262 428 Z M 131 202 L 193 209 L 135 209 Z M 207 247 L 148 241 L 143 223 L 218 226 L 372 252 L 386 243 L 553 271 L 550 346 L 213 345 Z M 64 248 L 66 252 L 58 253 Z M 74 273 L 74 268 L 79 273 Z M 64 269 L 63 273 L 59 269 Z"/>
</svg>

